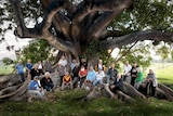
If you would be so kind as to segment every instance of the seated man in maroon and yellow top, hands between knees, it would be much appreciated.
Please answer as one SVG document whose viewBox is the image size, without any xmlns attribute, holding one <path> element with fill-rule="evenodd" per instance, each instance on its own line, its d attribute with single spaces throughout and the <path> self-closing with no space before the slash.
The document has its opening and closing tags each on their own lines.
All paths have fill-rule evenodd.
<svg viewBox="0 0 173 116">
<path fill-rule="evenodd" d="M 66 87 L 72 89 L 72 78 L 68 72 L 66 72 L 65 76 L 63 77 L 62 90 L 64 90 Z"/>
</svg>

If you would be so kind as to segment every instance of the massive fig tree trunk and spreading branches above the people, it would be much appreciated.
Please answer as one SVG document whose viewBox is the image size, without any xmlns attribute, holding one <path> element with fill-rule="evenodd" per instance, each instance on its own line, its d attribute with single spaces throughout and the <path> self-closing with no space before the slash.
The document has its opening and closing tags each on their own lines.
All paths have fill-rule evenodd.
<svg viewBox="0 0 173 116">
<path fill-rule="evenodd" d="M 69 60 L 71 56 L 79 60 L 82 55 L 92 60 L 101 49 L 120 48 L 137 40 L 172 41 L 173 34 L 159 30 L 111 29 L 109 24 L 116 17 L 119 18 L 129 8 L 137 4 L 133 0 L 40 0 L 44 14 L 40 15 L 42 21 L 32 28 L 25 24 L 24 14 L 27 13 L 23 13 L 21 0 L 10 1 L 17 24 L 15 35 L 19 38 L 45 39 L 52 47 L 66 53 Z"/>
</svg>

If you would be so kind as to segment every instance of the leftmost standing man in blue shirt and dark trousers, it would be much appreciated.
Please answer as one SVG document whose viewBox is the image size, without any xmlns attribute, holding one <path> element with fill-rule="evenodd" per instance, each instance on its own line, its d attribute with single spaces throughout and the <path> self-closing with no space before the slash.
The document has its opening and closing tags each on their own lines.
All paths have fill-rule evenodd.
<svg viewBox="0 0 173 116">
<path fill-rule="evenodd" d="M 18 61 L 18 64 L 15 66 L 15 68 L 17 70 L 17 75 L 18 75 L 19 81 L 24 82 L 25 81 L 24 65 L 23 65 L 23 61 L 22 60 Z"/>
</svg>

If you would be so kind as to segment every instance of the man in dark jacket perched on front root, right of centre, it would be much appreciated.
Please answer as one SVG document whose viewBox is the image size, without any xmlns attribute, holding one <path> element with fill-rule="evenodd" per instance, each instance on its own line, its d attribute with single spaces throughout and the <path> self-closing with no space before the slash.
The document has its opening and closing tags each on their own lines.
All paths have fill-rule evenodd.
<svg viewBox="0 0 173 116">
<path fill-rule="evenodd" d="M 118 74 L 114 85 L 110 86 L 110 90 L 116 93 L 117 90 L 120 90 L 120 88 L 123 86 L 123 80 L 121 78 L 121 74 Z"/>
</svg>

